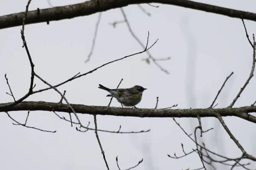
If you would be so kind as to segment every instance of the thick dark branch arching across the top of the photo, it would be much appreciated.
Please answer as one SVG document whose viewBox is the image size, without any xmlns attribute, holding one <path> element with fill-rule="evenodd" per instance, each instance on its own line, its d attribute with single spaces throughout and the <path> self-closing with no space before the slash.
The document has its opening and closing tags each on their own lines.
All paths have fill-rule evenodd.
<svg viewBox="0 0 256 170">
<path fill-rule="evenodd" d="M 132 4 L 162 3 L 184 8 L 191 8 L 200 11 L 221 14 L 228 17 L 243 18 L 244 20 L 256 21 L 256 14 L 252 12 L 239 11 L 230 8 L 213 6 L 205 3 L 198 3 L 189 0 L 90 0 L 68 6 L 58 6 L 47 9 L 29 11 L 26 17 L 26 24 L 58 21 L 108 11 L 114 8 L 121 8 Z M 9 14 L 0 17 L 0 29 L 14 26 L 21 26 L 25 12 Z M 242 16 L 242 17 L 241 17 Z"/>
</svg>

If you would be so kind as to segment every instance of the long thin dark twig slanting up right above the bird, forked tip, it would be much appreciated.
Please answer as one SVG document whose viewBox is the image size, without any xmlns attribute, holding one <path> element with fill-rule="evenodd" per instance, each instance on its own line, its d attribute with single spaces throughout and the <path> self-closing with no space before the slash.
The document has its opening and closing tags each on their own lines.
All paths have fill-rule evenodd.
<svg viewBox="0 0 256 170">
<path fill-rule="evenodd" d="M 148 32 L 148 38 L 149 38 L 149 32 Z M 113 62 L 116 62 L 116 61 L 119 61 L 119 60 L 122 60 L 122 59 L 125 59 L 125 58 L 128 58 L 128 57 L 131 57 L 131 56 L 134 56 L 134 55 L 137 55 L 137 54 L 142 54 L 142 53 L 144 53 L 145 51 L 148 51 L 151 47 L 153 47 L 153 46 L 155 45 L 155 43 L 157 43 L 157 41 L 158 41 L 158 39 L 148 48 L 148 39 L 147 39 L 147 44 L 146 44 L 146 47 L 145 47 L 145 49 L 144 49 L 143 51 L 140 51 L 140 52 L 137 52 L 137 53 L 134 53 L 134 54 L 131 54 L 131 55 L 122 57 L 122 58 L 120 58 L 120 59 L 115 59 L 115 60 L 113 60 L 113 61 L 111 61 L 111 62 L 107 62 L 107 63 L 105 63 L 105 64 L 103 64 L 103 65 L 101 65 L 101 66 L 99 66 L 99 67 L 97 67 L 97 68 L 94 68 L 94 69 L 91 70 L 91 71 L 88 71 L 87 73 L 80 74 L 80 75 L 77 75 L 77 76 L 72 77 L 72 78 L 70 78 L 70 79 L 67 79 L 66 81 L 61 82 L 61 83 L 58 84 L 58 85 L 54 85 L 53 87 L 56 88 L 56 87 L 58 87 L 58 86 L 60 86 L 60 85 L 63 85 L 63 84 L 65 84 L 65 83 L 67 83 L 67 82 L 72 81 L 73 79 L 77 79 L 77 78 L 79 78 L 79 77 L 82 77 L 82 76 L 85 76 L 85 75 L 87 75 L 87 74 L 93 73 L 94 71 L 98 70 L 99 68 L 102 68 L 102 67 L 104 67 L 105 65 L 111 64 L 111 63 L 113 63 Z M 38 91 L 34 91 L 33 94 L 38 93 L 38 92 L 42 92 L 42 91 L 47 91 L 47 90 L 49 90 L 49 89 L 52 89 L 52 88 L 44 88 L 44 89 L 41 89 L 41 90 L 38 90 Z"/>
</svg>

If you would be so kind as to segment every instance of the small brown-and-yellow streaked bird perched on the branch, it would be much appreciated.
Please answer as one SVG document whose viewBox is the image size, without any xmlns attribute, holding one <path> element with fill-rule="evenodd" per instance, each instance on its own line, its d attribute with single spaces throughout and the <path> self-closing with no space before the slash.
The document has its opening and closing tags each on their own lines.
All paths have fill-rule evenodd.
<svg viewBox="0 0 256 170">
<path fill-rule="evenodd" d="M 107 96 L 111 96 L 117 99 L 119 103 L 121 103 L 122 108 L 124 106 L 134 107 L 135 105 L 139 104 L 142 98 L 143 91 L 146 88 L 143 88 L 140 85 L 135 85 L 132 88 L 117 88 L 117 89 L 110 89 L 106 88 L 103 85 L 99 85 L 99 88 L 105 91 L 108 91 L 110 94 Z"/>
</svg>

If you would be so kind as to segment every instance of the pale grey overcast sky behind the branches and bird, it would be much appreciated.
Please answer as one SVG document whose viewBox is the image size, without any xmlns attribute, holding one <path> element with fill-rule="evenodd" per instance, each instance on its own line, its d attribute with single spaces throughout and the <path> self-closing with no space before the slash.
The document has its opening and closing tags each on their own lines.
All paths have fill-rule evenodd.
<svg viewBox="0 0 256 170">
<path fill-rule="evenodd" d="M 53 6 L 64 6 L 83 1 L 50 2 Z M 198 2 L 256 13 L 254 0 Z M 1 0 L 0 16 L 25 11 L 26 4 L 27 0 Z M 172 57 L 168 61 L 159 62 L 170 74 L 160 71 L 152 62 L 148 65 L 142 61 L 147 57 L 146 53 L 136 55 L 59 87 L 58 90 L 61 92 L 67 91 L 66 97 L 70 103 L 108 105 L 110 98 L 105 97 L 108 93 L 99 89 L 98 84 L 115 88 L 123 78 L 120 88 L 130 88 L 134 85 L 148 88 L 143 94 L 142 101 L 137 105 L 138 108 L 154 108 L 157 96 L 159 108 L 174 104 L 178 104 L 176 108 L 207 108 L 226 77 L 233 71 L 233 76 L 216 101 L 216 108 L 230 105 L 247 80 L 253 59 L 253 49 L 245 36 L 241 20 L 177 6 L 154 5 L 160 7 L 142 5 L 151 13 L 151 17 L 145 15 L 137 5 L 125 7 L 124 10 L 135 34 L 144 44 L 148 31 L 149 45 L 159 39 L 150 49 L 155 58 Z M 47 0 L 32 0 L 29 10 L 49 7 Z M 143 50 L 124 23 L 117 25 L 116 28 L 109 25 L 123 20 L 120 9 L 114 9 L 102 14 L 93 55 L 90 62 L 85 64 L 98 15 L 50 22 L 49 25 L 38 23 L 25 26 L 26 42 L 35 64 L 35 72 L 55 85 L 78 72 L 85 73 L 106 62 Z M 247 20 L 245 24 L 252 40 L 252 34 L 256 33 L 256 24 Z M 26 94 L 29 89 L 31 68 L 26 50 L 21 48 L 23 44 L 20 29 L 21 26 L 0 30 L 0 103 L 12 102 L 12 97 L 6 94 L 9 92 L 4 78 L 6 73 L 16 99 Z M 35 90 L 47 87 L 37 78 L 35 83 Z M 255 84 L 256 78 L 253 77 L 234 107 L 251 105 L 256 100 Z M 26 99 L 46 102 L 59 100 L 59 94 L 53 90 L 34 94 Z M 111 105 L 120 107 L 115 99 Z M 25 121 L 26 113 L 10 112 L 11 116 L 20 122 Z M 57 132 L 45 133 L 12 125 L 12 120 L 6 113 L 1 113 L 0 169 L 106 169 L 94 131 L 78 132 L 75 127 L 70 127 L 70 123 L 60 120 L 54 113 L 30 113 L 27 125 Z M 61 115 L 69 117 L 67 113 Z M 90 127 L 94 127 L 93 116 L 79 114 L 79 118 L 84 125 L 90 121 Z M 196 154 L 178 160 L 167 156 L 173 156 L 173 153 L 180 156 L 183 153 L 181 142 L 186 152 L 195 148 L 195 144 L 172 118 L 97 116 L 97 120 L 99 129 L 118 130 L 119 125 L 122 125 L 122 131 L 151 129 L 149 133 L 140 134 L 99 132 L 111 170 L 118 169 L 116 156 L 122 170 L 134 166 L 142 158 L 144 161 L 136 167 L 137 170 L 180 170 L 201 167 L 201 161 Z M 197 119 L 176 120 L 188 133 L 192 133 L 198 126 Z M 235 117 L 224 117 L 224 121 L 247 153 L 256 156 L 256 125 Z M 214 127 L 214 130 L 205 133 L 200 139 L 209 149 L 224 156 L 241 156 L 241 151 L 215 118 L 202 118 L 202 125 L 205 130 Z M 216 165 L 216 168 L 224 167 Z M 250 168 L 256 168 L 256 164 L 251 164 Z"/>
</svg>

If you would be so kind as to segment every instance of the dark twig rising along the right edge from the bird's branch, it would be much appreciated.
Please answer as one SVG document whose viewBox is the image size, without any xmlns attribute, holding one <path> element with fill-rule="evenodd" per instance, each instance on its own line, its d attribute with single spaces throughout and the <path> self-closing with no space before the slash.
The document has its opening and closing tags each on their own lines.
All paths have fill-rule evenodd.
<svg viewBox="0 0 256 170">
<path fill-rule="evenodd" d="M 228 106 L 229 108 L 232 108 L 233 105 L 235 105 L 237 99 L 240 97 L 241 93 L 244 91 L 246 86 L 249 84 L 250 79 L 254 76 L 253 72 L 254 72 L 254 69 L 255 69 L 255 61 L 256 61 L 256 59 L 255 59 L 255 48 L 256 48 L 256 42 L 255 42 L 255 37 L 254 37 L 254 34 L 253 34 L 253 66 L 252 66 L 252 69 L 251 69 L 251 72 L 250 72 L 250 75 L 249 75 L 247 81 L 244 83 L 244 86 L 241 88 L 241 90 L 239 91 L 239 93 L 237 94 L 237 96 L 233 100 L 233 102 Z"/>
</svg>

